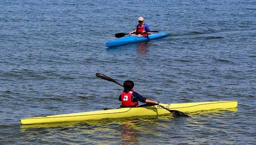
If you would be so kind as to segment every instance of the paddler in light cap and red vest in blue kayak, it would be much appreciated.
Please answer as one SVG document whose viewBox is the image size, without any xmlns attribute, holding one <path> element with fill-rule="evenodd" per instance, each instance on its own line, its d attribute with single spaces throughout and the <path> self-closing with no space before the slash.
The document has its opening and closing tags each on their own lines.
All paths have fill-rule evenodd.
<svg viewBox="0 0 256 145">
<path fill-rule="evenodd" d="M 138 18 L 138 25 L 134 31 L 129 32 L 129 34 L 137 33 L 136 35 L 139 37 L 147 37 L 147 35 L 150 35 L 150 29 L 147 26 L 146 23 L 144 23 L 144 18 L 139 17 Z"/>
</svg>

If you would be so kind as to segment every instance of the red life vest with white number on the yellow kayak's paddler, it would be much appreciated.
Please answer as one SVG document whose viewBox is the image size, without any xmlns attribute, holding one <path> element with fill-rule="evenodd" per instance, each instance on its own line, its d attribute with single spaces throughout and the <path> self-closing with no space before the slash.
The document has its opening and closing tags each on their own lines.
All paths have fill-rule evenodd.
<svg viewBox="0 0 256 145">
<path fill-rule="evenodd" d="M 133 91 L 129 91 L 128 93 L 121 93 L 121 107 L 138 107 L 138 101 L 132 102 L 132 92 Z"/>
</svg>

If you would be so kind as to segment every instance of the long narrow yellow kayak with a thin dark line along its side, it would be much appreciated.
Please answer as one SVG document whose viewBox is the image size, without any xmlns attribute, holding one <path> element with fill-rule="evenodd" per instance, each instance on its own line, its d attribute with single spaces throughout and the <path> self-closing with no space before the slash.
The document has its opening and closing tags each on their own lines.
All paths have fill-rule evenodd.
<svg viewBox="0 0 256 145">
<path fill-rule="evenodd" d="M 200 110 L 228 109 L 237 107 L 237 101 L 216 101 L 216 102 L 194 102 L 161 104 L 171 110 L 179 110 L 184 113 L 192 113 Z M 99 110 L 82 113 L 70 113 L 52 116 L 32 117 L 21 119 L 22 124 L 38 124 L 53 122 L 74 122 L 85 120 L 100 120 L 107 118 L 124 118 L 132 116 L 158 116 L 170 113 L 158 105 L 147 107 L 127 107 L 111 110 Z"/>
</svg>

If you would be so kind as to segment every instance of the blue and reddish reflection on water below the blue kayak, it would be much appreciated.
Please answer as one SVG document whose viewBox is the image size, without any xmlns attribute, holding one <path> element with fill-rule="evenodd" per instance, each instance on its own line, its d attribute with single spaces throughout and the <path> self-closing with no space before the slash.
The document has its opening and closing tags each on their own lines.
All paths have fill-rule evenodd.
<svg viewBox="0 0 256 145">
<path fill-rule="evenodd" d="M 141 43 L 136 43 L 136 44 L 126 44 L 126 45 L 108 47 L 108 48 L 106 48 L 106 50 L 108 53 L 137 52 L 138 55 L 145 57 L 145 56 L 147 56 L 147 53 L 149 52 L 148 45 L 149 44 L 147 42 L 141 42 Z"/>
</svg>

